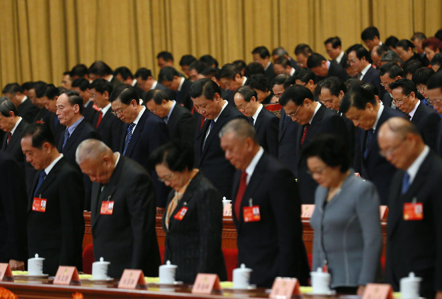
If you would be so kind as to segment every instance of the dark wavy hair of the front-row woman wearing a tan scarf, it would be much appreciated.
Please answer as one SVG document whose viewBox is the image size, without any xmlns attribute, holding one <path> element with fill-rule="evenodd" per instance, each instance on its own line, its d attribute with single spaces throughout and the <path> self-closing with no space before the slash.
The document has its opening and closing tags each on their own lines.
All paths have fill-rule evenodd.
<svg viewBox="0 0 442 299">
<path fill-rule="evenodd" d="M 184 172 L 193 168 L 193 148 L 184 140 L 175 139 L 155 149 L 147 161 L 148 167 L 165 164 L 171 171 Z"/>
</svg>

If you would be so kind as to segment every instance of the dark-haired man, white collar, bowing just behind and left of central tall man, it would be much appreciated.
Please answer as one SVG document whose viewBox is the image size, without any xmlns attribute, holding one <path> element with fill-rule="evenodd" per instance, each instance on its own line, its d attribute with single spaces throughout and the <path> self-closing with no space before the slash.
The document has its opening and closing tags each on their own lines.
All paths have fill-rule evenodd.
<svg viewBox="0 0 442 299">
<path fill-rule="evenodd" d="M 192 110 L 193 104 L 189 94 L 192 81 L 184 78 L 176 69 L 171 66 L 165 66 L 158 75 L 158 81 L 167 89 L 175 91 L 175 101 Z"/>
</svg>

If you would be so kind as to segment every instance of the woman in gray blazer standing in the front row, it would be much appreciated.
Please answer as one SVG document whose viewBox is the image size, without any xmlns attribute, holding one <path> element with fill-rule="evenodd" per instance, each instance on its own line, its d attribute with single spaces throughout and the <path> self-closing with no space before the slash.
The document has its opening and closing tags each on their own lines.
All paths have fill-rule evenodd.
<svg viewBox="0 0 442 299">
<path fill-rule="evenodd" d="M 303 149 L 311 176 L 319 186 L 315 210 L 313 270 L 331 273 L 331 288 L 338 293 L 361 295 L 367 283 L 381 274 L 382 233 L 379 196 L 368 180 L 349 169 L 345 143 L 321 135 Z"/>
</svg>

